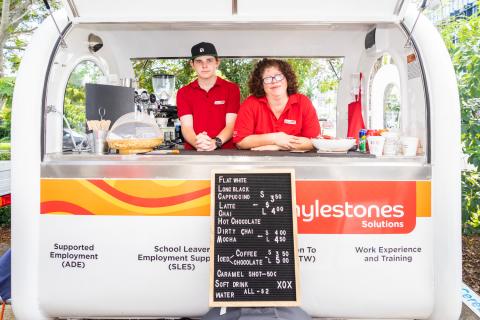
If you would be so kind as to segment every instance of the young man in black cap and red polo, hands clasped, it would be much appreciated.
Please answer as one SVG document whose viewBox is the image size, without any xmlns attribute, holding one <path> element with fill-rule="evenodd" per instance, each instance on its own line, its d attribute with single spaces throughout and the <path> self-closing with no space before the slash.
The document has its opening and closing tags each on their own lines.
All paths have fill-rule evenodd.
<svg viewBox="0 0 480 320">
<path fill-rule="evenodd" d="M 234 148 L 231 138 L 240 105 L 240 89 L 217 76 L 220 59 L 213 44 L 200 42 L 192 47 L 191 52 L 190 65 L 197 80 L 177 93 L 185 149 Z"/>
</svg>

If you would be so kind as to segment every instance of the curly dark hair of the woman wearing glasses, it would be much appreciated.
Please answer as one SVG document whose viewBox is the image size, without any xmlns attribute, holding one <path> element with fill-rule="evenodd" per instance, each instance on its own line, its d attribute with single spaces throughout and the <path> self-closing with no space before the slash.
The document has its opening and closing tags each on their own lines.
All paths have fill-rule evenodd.
<svg viewBox="0 0 480 320">
<path fill-rule="evenodd" d="M 248 88 L 250 94 L 257 98 L 265 97 L 265 90 L 263 90 L 263 72 L 270 67 L 278 68 L 287 80 L 287 94 L 290 96 L 298 92 L 297 76 L 293 72 L 292 67 L 286 61 L 280 59 L 264 58 L 257 62 L 253 69 L 250 79 L 248 80 Z"/>
</svg>

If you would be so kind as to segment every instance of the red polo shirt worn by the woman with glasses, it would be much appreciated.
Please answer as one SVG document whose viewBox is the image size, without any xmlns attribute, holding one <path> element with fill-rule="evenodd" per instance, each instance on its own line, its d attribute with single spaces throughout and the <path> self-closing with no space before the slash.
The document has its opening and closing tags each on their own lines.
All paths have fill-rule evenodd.
<svg viewBox="0 0 480 320">
<path fill-rule="evenodd" d="M 248 97 L 240 107 L 233 131 L 233 143 L 252 134 L 285 132 L 297 137 L 314 138 L 320 134 L 317 113 L 310 99 L 292 94 L 280 118 L 273 114 L 266 97 Z"/>
</svg>

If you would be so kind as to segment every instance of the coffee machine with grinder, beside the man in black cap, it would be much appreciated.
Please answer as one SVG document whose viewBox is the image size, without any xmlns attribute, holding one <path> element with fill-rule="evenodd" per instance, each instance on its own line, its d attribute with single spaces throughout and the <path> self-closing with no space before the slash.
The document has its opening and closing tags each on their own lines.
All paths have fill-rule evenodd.
<svg viewBox="0 0 480 320">
<path fill-rule="evenodd" d="M 170 103 L 175 92 L 175 76 L 157 74 L 152 77 L 154 93 L 150 94 L 155 121 L 163 132 L 164 148 L 172 148 L 182 144 L 180 120 L 177 106 Z"/>
</svg>

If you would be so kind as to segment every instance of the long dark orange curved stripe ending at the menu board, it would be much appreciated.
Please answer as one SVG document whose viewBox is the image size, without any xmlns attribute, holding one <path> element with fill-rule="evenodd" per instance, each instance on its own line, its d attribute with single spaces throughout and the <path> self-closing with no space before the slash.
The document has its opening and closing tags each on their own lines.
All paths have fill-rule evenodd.
<svg viewBox="0 0 480 320">
<path fill-rule="evenodd" d="M 121 200 L 123 202 L 136 205 L 139 207 L 147 207 L 147 208 L 158 208 L 158 207 L 167 207 L 176 205 L 182 202 L 187 202 L 194 200 L 196 198 L 200 198 L 206 195 L 210 195 L 210 188 L 205 188 L 201 190 L 197 190 L 190 193 L 181 194 L 178 196 L 172 197 L 165 197 L 165 198 L 141 198 L 128 195 L 123 193 L 103 180 L 87 180 L 91 184 L 95 185 L 97 188 L 103 190 L 104 192 L 108 193 L 112 197 Z"/>
</svg>

